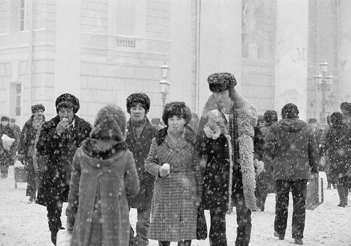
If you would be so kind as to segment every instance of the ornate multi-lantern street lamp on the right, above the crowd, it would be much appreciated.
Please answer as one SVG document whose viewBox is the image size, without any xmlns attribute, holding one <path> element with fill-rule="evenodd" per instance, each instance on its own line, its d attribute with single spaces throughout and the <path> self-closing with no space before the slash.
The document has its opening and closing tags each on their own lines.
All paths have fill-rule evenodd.
<svg viewBox="0 0 351 246">
<path fill-rule="evenodd" d="M 325 106 L 329 103 L 326 99 L 326 93 L 327 91 L 330 90 L 330 86 L 333 83 L 333 76 L 328 73 L 326 75 L 327 70 L 328 70 L 328 63 L 326 63 L 324 60 L 320 65 L 320 73 L 318 73 L 316 76 L 314 76 L 314 79 L 316 80 L 316 86 L 318 91 L 322 92 L 322 112 L 320 113 L 320 123 L 325 122 L 326 120 L 326 115 L 325 115 Z"/>
</svg>

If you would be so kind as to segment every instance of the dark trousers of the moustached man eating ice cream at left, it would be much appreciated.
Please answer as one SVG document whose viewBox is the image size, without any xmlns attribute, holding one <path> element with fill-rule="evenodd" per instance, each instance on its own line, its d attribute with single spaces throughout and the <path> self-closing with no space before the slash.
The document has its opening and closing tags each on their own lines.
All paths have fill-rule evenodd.
<svg viewBox="0 0 351 246">
<path fill-rule="evenodd" d="M 61 201 L 50 201 L 46 205 L 47 220 L 49 224 L 49 230 L 51 232 L 51 241 L 56 245 L 57 232 L 62 228 L 61 223 L 61 212 L 62 202 Z"/>
</svg>

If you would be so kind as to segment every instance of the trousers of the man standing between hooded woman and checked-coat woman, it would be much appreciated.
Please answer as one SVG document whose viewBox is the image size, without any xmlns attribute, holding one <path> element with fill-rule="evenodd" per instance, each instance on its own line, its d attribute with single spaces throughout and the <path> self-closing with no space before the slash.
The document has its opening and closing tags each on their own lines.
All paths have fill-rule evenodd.
<svg viewBox="0 0 351 246">
<path fill-rule="evenodd" d="M 130 210 L 130 209 L 129 209 Z M 146 246 L 149 244 L 149 240 L 147 239 L 147 233 L 150 227 L 150 215 L 151 209 L 137 209 L 137 224 L 135 225 L 135 231 L 137 235 L 133 238 L 134 231 L 131 226 L 130 228 L 130 236 L 131 239 L 133 238 L 133 245 L 134 246 Z"/>
</svg>

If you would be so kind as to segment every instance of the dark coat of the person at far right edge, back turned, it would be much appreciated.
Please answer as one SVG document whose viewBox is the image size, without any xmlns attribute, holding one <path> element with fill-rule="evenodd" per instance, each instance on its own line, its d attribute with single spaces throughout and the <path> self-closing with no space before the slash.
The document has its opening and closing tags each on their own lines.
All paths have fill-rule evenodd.
<svg viewBox="0 0 351 246">
<path fill-rule="evenodd" d="M 330 183 L 337 183 L 351 166 L 351 128 L 346 124 L 332 125 L 325 134 L 320 156 L 325 151 L 330 161 Z"/>
</svg>

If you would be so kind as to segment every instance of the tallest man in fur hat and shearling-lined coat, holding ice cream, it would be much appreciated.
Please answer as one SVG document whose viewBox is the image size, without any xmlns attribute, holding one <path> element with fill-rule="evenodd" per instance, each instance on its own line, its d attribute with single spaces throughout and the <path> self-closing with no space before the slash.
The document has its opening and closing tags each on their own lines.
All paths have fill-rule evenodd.
<svg viewBox="0 0 351 246">
<path fill-rule="evenodd" d="M 200 119 L 198 149 L 207 156 L 202 206 L 210 210 L 210 245 L 227 245 L 225 214 L 233 202 L 238 223 L 236 245 L 245 246 L 250 242 L 251 211 L 257 211 L 255 171 L 263 169 L 258 113 L 236 92 L 232 74 L 211 74 L 207 81 L 213 94 Z"/>
</svg>

